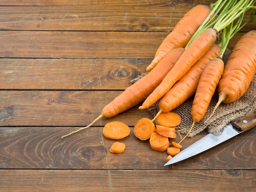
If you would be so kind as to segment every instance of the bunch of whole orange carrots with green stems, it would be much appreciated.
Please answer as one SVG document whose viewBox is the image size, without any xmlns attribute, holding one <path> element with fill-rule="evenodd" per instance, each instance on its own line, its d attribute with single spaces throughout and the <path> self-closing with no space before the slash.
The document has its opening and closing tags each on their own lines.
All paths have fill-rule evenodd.
<svg viewBox="0 0 256 192">
<path fill-rule="evenodd" d="M 88 126 L 62 138 L 90 127 L 100 118 L 116 116 L 142 102 L 144 103 L 139 109 L 146 109 L 161 99 L 159 113 L 153 119 L 155 120 L 160 114 L 170 112 L 195 95 L 191 109 L 194 124 L 203 118 L 217 86 L 220 101 L 216 107 L 221 102 L 230 103 L 239 99 L 246 92 L 256 73 L 256 32 L 249 32 L 238 42 L 239 45 L 235 50 L 240 52 L 236 51 L 235 54 L 233 51 L 225 67 L 222 55 L 234 34 L 247 22 L 253 20 L 254 11 L 250 19 L 242 25 L 245 12 L 249 9 L 254 10 L 255 3 L 256 0 L 217 0 L 211 4 L 211 7 L 204 5 L 193 7 L 164 39 L 154 60 L 146 68 L 149 73 L 106 105 L 101 114 Z M 214 42 L 220 31 L 223 31 L 222 42 L 215 45 Z M 249 43 L 246 41 L 248 36 Z M 241 59 L 243 65 L 240 63 Z M 234 60 L 239 60 L 239 64 L 237 65 Z M 239 77 L 236 77 L 236 74 L 239 74 Z M 163 127 L 159 126 L 156 130 L 164 132 Z M 192 127 L 193 125 L 191 129 Z M 135 130 L 137 130 L 136 126 Z M 158 141 L 155 137 L 157 131 L 155 128 L 154 131 L 152 130 L 150 136 L 142 134 L 145 136 L 144 139 Z M 174 147 L 180 146 L 175 145 Z"/>
</svg>

